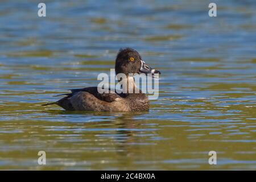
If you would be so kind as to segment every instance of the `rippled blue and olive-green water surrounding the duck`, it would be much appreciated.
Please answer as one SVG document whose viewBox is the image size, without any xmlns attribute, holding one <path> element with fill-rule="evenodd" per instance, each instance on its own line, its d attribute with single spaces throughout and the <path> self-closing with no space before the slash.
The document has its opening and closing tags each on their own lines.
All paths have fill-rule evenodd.
<svg viewBox="0 0 256 182">
<path fill-rule="evenodd" d="M 256 169 L 256 1 L 44 2 L 1 2 L 0 169 Z M 40 106 L 121 47 L 162 72 L 148 112 Z"/>
</svg>

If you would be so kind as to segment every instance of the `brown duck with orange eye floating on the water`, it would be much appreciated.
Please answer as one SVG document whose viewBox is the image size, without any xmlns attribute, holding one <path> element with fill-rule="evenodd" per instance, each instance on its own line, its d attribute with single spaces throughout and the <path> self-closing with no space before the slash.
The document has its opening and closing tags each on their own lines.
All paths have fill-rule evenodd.
<svg viewBox="0 0 256 182">
<path fill-rule="evenodd" d="M 115 75 L 122 73 L 125 79 L 118 78 L 118 81 L 126 81 L 127 86 L 122 87 L 121 92 L 110 90 L 108 93 L 98 92 L 97 86 L 81 89 L 70 89 L 71 93 L 60 94 L 65 96 L 56 102 L 47 105 L 58 105 L 69 111 L 109 111 L 109 112 L 134 112 L 147 111 L 150 109 L 150 101 L 146 93 L 143 93 L 134 81 L 134 74 L 146 74 L 156 77 L 160 71 L 152 69 L 143 60 L 141 55 L 133 48 L 121 48 L 115 59 Z M 124 92 L 128 86 L 132 86 L 134 92 Z M 135 92 L 136 91 L 136 92 Z"/>
</svg>

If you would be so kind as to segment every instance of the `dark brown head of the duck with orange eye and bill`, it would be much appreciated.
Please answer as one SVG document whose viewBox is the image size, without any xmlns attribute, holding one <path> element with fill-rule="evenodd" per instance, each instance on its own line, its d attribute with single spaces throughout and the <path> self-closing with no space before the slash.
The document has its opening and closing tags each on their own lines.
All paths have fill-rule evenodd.
<svg viewBox="0 0 256 182">
<path fill-rule="evenodd" d="M 161 74 L 156 69 L 150 68 L 143 60 L 141 55 L 132 48 L 120 49 L 115 59 L 115 74 L 123 73 L 145 73 L 148 76 L 156 77 L 155 74 Z M 157 77 L 158 78 L 158 77 Z"/>
</svg>

